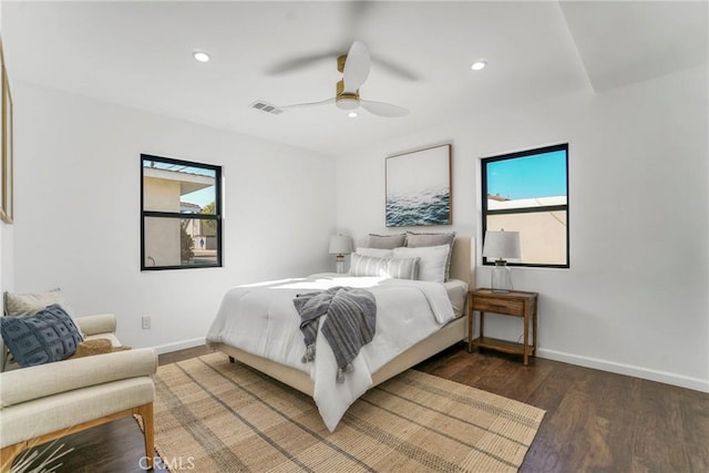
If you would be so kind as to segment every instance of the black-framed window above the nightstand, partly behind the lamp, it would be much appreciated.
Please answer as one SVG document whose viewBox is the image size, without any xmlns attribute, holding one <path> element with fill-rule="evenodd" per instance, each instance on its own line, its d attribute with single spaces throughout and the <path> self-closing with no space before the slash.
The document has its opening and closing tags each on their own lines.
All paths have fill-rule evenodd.
<svg viewBox="0 0 709 473">
<path fill-rule="evenodd" d="M 511 266 L 568 268 L 568 144 L 481 163 L 483 235 L 520 232 L 522 257 Z"/>
</svg>

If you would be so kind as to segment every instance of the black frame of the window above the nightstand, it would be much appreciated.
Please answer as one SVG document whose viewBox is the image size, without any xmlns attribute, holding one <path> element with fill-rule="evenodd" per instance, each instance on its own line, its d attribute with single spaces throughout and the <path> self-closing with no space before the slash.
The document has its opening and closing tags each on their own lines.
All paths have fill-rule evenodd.
<svg viewBox="0 0 709 473">
<path fill-rule="evenodd" d="M 565 152 L 566 164 L 566 204 L 565 205 L 547 205 L 541 207 L 521 207 L 510 209 L 495 209 L 487 208 L 487 164 L 496 163 L 500 161 L 515 160 L 520 157 L 530 157 L 538 154 L 552 153 L 557 151 Z M 482 234 L 483 241 L 485 233 L 487 232 L 487 216 L 489 215 L 505 215 L 505 214 L 525 214 L 525 213 L 542 213 L 542 212 L 566 212 L 566 264 L 540 264 L 540 263 L 513 263 L 507 261 L 507 266 L 521 266 L 531 268 L 571 268 L 571 233 L 569 233 L 569 192 L 568 192 L 568 143 L 556 144 L 551 146 L 537 147 L 534 150 L 525 150 L 515 153 L 501 154 L 496 156 L 481 157 L 481 197 L 482 197 Z M 484 266 L 494 266 L 493 258 L 483 256 Z"/>
</svg>

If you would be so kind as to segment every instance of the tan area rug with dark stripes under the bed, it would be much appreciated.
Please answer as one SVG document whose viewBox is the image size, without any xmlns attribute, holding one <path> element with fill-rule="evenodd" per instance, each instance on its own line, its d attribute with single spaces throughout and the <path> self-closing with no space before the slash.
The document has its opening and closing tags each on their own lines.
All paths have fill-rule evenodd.
<svg viewBox="0 0 709 473">
<path fill-rule="evenodd" d="M 314 401 L 223 353 L 160 367 L 155 443 L 172 471 L 515 472 L 544 411 L 414 370 L 330 433 Z"/>
</svg>

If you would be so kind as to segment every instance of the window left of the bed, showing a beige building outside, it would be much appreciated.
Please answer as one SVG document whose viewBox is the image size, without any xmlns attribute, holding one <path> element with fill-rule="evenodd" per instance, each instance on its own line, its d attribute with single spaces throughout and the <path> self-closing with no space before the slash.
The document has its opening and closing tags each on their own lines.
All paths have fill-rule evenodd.
<svg viewBox="0 0 709 473">
<path fill-rule="evenodd" d="M 222 167 L 141 154 L 141 269 L 222 266 Z"/>
</svg>

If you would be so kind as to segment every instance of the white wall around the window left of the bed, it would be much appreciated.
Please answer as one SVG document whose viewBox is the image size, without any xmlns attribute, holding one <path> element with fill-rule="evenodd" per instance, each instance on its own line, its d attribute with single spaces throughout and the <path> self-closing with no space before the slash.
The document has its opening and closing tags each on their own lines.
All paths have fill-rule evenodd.
<svg viewBox="0 0 709 473">
<path fill-rule="evenodd" d="M 124 343 L 166 349 L 204 338 L 228 287 L 332 269 L 335 158 L 17 85 L 16 291 L 61 287 L 79 315 L 116 313 Z M 141 153 L 223 166 L 223 268 L 140 271 Z"/>
</svg>

